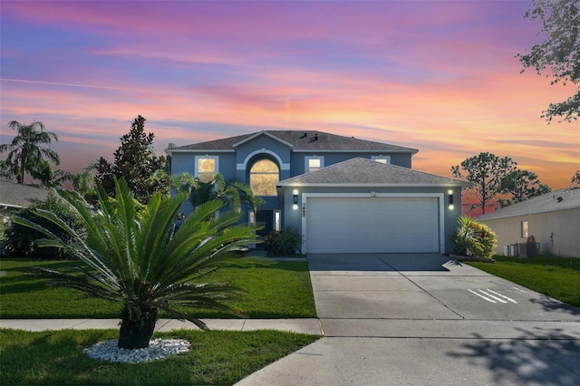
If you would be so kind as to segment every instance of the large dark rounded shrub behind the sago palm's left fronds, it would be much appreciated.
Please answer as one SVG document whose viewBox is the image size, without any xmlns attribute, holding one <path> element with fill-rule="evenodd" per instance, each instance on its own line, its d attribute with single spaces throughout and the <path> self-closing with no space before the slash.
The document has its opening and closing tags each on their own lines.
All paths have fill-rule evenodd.
<svg viewBox="0 0 580 386">
<path fill-rule="evenodd" d="M 58 198 L 53 192 L 49 192 L 43 201 L 35 201 L 30 207 L 24 207 L 18 210 L 14 216 L 23 217 L 42 227 L 45 227 L 54 235 L 62 237 L 65 241 L 71 241 L 72 237 L 67 235 L 60 227 L 55 226 L 52 222 L 38 217 L 34 210 L 48 210 L 57 214 L 73 230 L 83 236 L 85 230 L 82 227 L 81 220 L 76 216 L 71 208 Z M 13 256 L 38 256 L 45 258 L 64 259 L 71 258 L 62 248 L 47 247 L 39 249 L 34 240 L 43 238 L 43 234 L 29 227 L 12 223 L 6 229 L 5 253 Z"/>
</svg>

